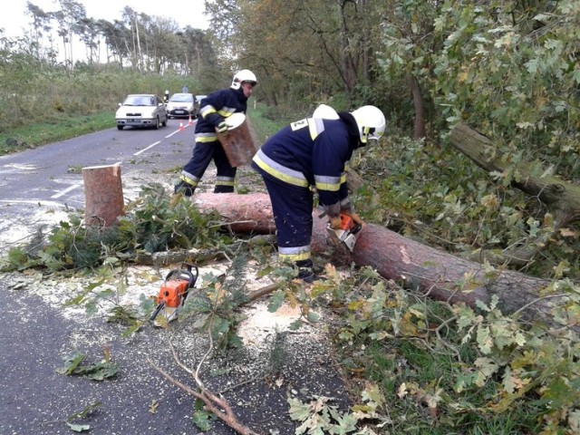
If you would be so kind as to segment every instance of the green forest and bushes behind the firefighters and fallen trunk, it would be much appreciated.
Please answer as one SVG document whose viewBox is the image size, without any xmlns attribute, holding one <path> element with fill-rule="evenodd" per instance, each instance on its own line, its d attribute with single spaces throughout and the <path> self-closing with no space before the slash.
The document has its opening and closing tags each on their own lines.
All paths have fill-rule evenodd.
<svg viewBox="0 0 580 435">
<path fill-rule="evenodd" d="M 54 16 L 31 8 L 34 25 L 21 39 L 0 34 L 3 132 L 114 111 L 129 92 L 188 84 L 208 93 L 238 68 L 256 73 L 255 96 L 276 121 L 322 102 L 337 110 L 375 104 L 388 128 L 379 147 L 353 159 L 362 217 L 488 268 L 552 280 L 569 293 L 565 322 L 580 322 L 579 0 L 208 0 L 207 31 L 129 9 L 118 22 L 85 23 L 79 4 L 59 4 L 63 14 Z M 48 25 L 60 29 L 59 50 L 81 37 L 87 61 L 57 61 L 60 42 L 47 41 Z M 107 63 L 94 61 L 98 47 Z M 475 156 L 459 150 L 460 126 L 488 146 Z M 567 385 L 577 385 L 572 347 L 574 370 L 559 378 Z M 504 386 L 521 381 L 522 367 Z M 529 391 L 520 384 L 507 396 L 511 403 Z M 543 414 L 541 433 L 580 427 L 577 393 L 566 397 L 561 410 Z M 558 431 L 561 421 L 567 429 Z"/>
</svg>

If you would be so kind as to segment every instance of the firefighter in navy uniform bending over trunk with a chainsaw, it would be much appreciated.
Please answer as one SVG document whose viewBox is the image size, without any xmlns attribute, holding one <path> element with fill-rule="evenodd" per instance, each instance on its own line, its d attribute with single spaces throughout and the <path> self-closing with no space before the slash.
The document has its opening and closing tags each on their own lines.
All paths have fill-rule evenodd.
<svg viewBox="0 0 580 435">
<path fill-rule="evenodd" d="M 275 133 L 254 156 L 252 167 L 262 175 L 272 202 L 278 256 L 293 262 L 305 282 L 314 280 L 312 188 L 331 227 L 341 227 L 340 214 L 361 223 L 348 198 L 346 169 L 353 150 L 379 140 L 384 129 L 384 115 L 374 106 L 337 113 L 322 105 L 311 118 Z"/>
</svg>

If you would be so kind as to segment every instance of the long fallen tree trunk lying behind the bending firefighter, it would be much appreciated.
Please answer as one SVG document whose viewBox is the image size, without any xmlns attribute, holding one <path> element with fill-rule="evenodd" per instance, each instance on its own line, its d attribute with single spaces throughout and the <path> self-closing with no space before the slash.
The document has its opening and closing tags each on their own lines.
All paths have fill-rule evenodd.
<svg viewBox="0 0 580 435">
<path fill-rule="evenodd" d="M 195 199 L 200 210 L 216 210 L 227 219 L 239 218 L 246 222 L 256 216 L 256 225 L 251 227 L 253 233 L 273 232 L 273 223 L 267 222 L 265 218 L 272 216 L 271 211 L 268 213 L 266 209 L 266 203 L 269 203 L 266 194 L 202 193 Z M 255 208 L 256 204 L 259 207 Z M 314 254 L 327 251 L 330 243 L 326 237 L 327 219 L 319 218 L 318 215 L 319 212 L 314 211 Z M 226 227 L 247 228 L 246 224 L 238 227 L 235 220 L 227 222 Z M 349 254 L 345 251 L 341 255 Z M 488 303 L 492 295 L 498 295 L 504 312 L 514 313 L 526 307 L 526 318 L 539 317 L 551 323 L 548 319 L 554 304 L 553 296 L 540 295 L 550 285 L 550 281 L 545 279 L 511 270 L 496 269 L 489 272 L 479 263 L 451 256 L 372 224 L 362 227 L 350 258 L 357 266 L 371 266 L 383 277 L 402 283 L 407 288 L 420 288 L 437 300 L 464 302 L 473 307 L 477 300 Z"/>
</svg>

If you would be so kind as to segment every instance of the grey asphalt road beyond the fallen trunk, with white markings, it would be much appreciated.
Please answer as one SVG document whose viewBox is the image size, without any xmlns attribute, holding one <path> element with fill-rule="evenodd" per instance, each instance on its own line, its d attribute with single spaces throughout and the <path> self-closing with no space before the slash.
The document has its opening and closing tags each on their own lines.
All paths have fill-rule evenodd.
<svg viewBox="0 0 580 435">
<path fill-rule="evenodd" d="M 120 164 L 122 178 L 136 170 L 153 173 L 183 166 L 191 156 L 194 127 L 195 121 L 170 120 L 157 131 L 115 128 L 0 157 L 0 213 L 18 204 L 24 212 L 24 206 L 38 203 L 83 208 L 82 167 Z"/>
</svg>

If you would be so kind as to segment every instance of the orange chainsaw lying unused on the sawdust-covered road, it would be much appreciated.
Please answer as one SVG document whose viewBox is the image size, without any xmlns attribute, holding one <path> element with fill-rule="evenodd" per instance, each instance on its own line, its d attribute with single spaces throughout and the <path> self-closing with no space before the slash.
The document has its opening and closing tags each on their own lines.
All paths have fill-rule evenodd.
<svg viewBox="0 0 580 435">
<path fill-rule="evenodd" d="M 150 320 L 156 326 L 166 326 L 179 316 L 179 308 L 185 304 L 189 290 L 198 280 L 198 266 L 183 263 L 180 269 L 173 269 L 165 277 L 165 281 L 157 295 L 157 307 L 153 310 Z M 195 273 L 191 271 L 195 268 Z"/>
</svg>

